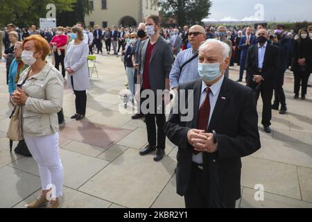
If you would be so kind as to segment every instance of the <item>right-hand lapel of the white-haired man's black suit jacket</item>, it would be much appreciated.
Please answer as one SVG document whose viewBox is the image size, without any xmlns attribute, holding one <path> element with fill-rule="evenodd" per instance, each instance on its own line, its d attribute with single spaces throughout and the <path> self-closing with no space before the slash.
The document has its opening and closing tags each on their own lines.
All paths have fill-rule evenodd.
<svg viewBox="0 0 312 222">
<path fill-rule="evenodd" d="M 211 132 L 212 130 L 214 130 L 214 128 L 216 127 L 216 123 L 218 123 L 218 119 L 223 113 L 223 110 L 225 109 L 227 103 L 229 103 L 229 100 L 231 99 L 231 94 L 229 91 L 228 84 L 229 84 L 229 80 L 227 78 L 224 78 L 223 84 L 221 86 L 220 93 L 218 96 L 218 100 L 214 107 L 214 112 L 212 113 L 211 121 L 208 126 L 208 132 Z"/>
</svg>

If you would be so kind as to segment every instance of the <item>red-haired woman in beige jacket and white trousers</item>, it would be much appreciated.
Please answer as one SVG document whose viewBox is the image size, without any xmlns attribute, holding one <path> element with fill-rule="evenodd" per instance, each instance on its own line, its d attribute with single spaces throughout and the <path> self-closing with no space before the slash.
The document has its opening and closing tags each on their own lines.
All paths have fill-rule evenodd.
<svg viewBox="0 0 312 222">
<path fill-rule="evenodd" d="M 23 42 L 21 60 L 28 65 L 19 78 L 12 101 L 21 105 L 21 129 L 29 151 L 38 164 L 42 182 L 40 198 L 28 204 L 38 208 L 60 207 L 64 170 L 58 144 L 58 112 L 62 109 L 64 80 L 60 71 L 46 62 L 50 46 L 40 35 Z M 52 195 L 50 195 L 50 191 Z"/>
</svg>

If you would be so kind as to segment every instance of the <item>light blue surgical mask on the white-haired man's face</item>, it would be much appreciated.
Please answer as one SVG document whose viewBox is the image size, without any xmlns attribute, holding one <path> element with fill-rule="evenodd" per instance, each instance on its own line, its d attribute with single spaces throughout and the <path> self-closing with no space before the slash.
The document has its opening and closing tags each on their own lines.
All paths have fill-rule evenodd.
<svg viewBox="0 0 312 222">
<path fill-rule="evenodd" d="M 198 74 L 205 82 L 212 82 L 222 75 L 220 63 L 198 63 Z"/>
</svg>

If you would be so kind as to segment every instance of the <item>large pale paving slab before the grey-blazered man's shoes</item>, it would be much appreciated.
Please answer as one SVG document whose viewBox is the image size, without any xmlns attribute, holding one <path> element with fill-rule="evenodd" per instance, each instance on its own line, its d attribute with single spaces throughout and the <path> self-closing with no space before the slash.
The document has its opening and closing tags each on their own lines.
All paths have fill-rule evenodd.
<svg viewBox="0 0 312 222">
<path fill-rule="evenodd" d="M 130 148 L 79 190 L 125 207 L 150 207 L 174 169 L 169 157 L 154 162 Z"/>
</svg>

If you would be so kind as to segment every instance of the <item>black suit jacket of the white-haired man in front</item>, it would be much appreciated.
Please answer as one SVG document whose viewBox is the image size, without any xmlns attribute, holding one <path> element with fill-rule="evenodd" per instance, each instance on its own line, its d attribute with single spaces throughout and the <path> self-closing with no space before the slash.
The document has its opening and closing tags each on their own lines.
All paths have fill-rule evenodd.
<svg viewBox="0 0 312 222">
<path fill-rule="evenodd" d="M 177 194 L 184 196 L 191 177 L 193 147 L 187 140 L 187 133 L 197 128 L 202 80 L 180 85 L 181 90 L 193 89 L 194 104 L 188 104 L 191 94 L 187 91 L 185 101 L 175 99 L 177 103 L 186 103 L 193 108 L 193 119 L 181 121 L 184 114 L 175 112 L 169 116 L 164 130 L 168 139 L 179 147 L 177 152 Z M 180 96 L 179 96 L 180 97 Z M 241 197 L 241 157 L 250 155 L 260 147 L 258 114 L 254 93 L 249 87 L 234 83 L 225 78 L 220 89 L 218 101 L 209 123 L 207 132 L 216 130 L 218 138 L 217 153 L 203 153 L 203 165 L 210 207 L 222 207 L 223 203 Z"/>
</svg>

